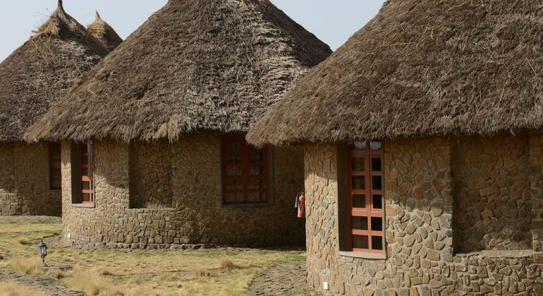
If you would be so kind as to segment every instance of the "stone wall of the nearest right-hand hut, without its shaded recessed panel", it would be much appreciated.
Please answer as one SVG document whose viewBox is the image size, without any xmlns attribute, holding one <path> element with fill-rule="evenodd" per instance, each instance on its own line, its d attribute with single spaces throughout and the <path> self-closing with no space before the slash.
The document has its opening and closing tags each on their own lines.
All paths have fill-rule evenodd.
<svg viewBox="0 0 543 296">
<path fill-rule="evenodd" d="M 456 254 L 453 142 L 384 143 L 384 259 L 341 252 L 338 201 L 346 198 L 338 196 L 341 157 L 334 145 L 306 144 L 309 283 L 336 295 L 541 295 L 543 255 L 532 249 Z"/>
</svg>

